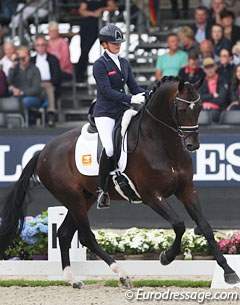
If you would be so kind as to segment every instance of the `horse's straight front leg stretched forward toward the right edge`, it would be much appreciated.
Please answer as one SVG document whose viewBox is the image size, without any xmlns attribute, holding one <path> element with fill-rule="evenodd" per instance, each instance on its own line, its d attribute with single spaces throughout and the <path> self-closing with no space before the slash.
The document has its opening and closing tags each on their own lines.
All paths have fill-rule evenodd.
<svg viewBox="0 0 240 305">
<path fill-rule="evenodd" d="M 196 224 L 202 231 L 203 236 L 207 239 L 209 245 L 211 246 L 217 263 L 224 270 L 225 282 L 229 284 L 238 283 L 240 281 L 239 277 L 237 276 L 235 271 L 228 265 L 225 257 L 223 256 L 217 245 L 212 228 L 203 215 L 195 187 L 193 185 L 186 187 L 183 191 L 176 194 L 176 196 L 181 202 L 183 202 L 189 215 L 196 222 Z"/>
</svg>

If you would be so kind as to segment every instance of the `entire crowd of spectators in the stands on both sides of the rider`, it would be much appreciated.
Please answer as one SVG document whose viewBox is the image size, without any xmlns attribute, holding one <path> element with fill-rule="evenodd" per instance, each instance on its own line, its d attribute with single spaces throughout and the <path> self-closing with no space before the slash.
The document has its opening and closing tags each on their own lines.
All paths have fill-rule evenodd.
<svg viewBox="0 0 240 305">
<path fill-rule="evenodd" d="M 3 1 L 2 5 L 14 2 Z M 194 11 L 193 24 L 188 22 L 187 26 L 170 33 L 166 38 L 167 51 L 156 61 L 156 81 L 168 75 L 179 75 L 191 83 L 204 79 L 199 93 L 203 108 L 211 112 L 215 123 L 222 110 L 240 110 L 240 1 L 236 1 L 237 7 L 231 9 L 228 2 L 199 1 L 201 5 Z M 24 7 L 24 1 L 21 5 L 17 3 L 16 10 Z M 21 99 L 28 112 L 29 124 L 35 124 L 32 110 L 44 106 L 48 126 L 55 125 L 61 83 L 71 81 L 74 71 L 77 82 L 86 82 L 88 55 L 97 39 L 99 21 L 105 11 L 112 14 L 116 10 L 118 1 L 80 0 L 78 3 L 81 55 L 75 67 L 70 60 L 69 43 L 60 36 L 55 21 L 49 22 L 47 36 L 35 37 L 33 50 L 24 45 L 16 48 L 11 41 L 2 43 L 0 97 Z M 154 3 L 155 6 L 158 3 L 160 11 L 161 1 Z M 31 5 L 35 4 L 36 1 L 32 1 Z M 173 16 L 179 18 L 177 1 L 171 1 L 171 5 Z M 13 6 L 6 4 L 5 9 L 8 7 L 11 11 Z M 188 18 L 188 0 L 182 1 L 182 6 L 183 17 Z M 27 18 L 27 13 L 25 15 Z M 17 24 L 17 18 L 13 18 L 9 26 L 13 27 L 13 23 Z"/>
</svg>

